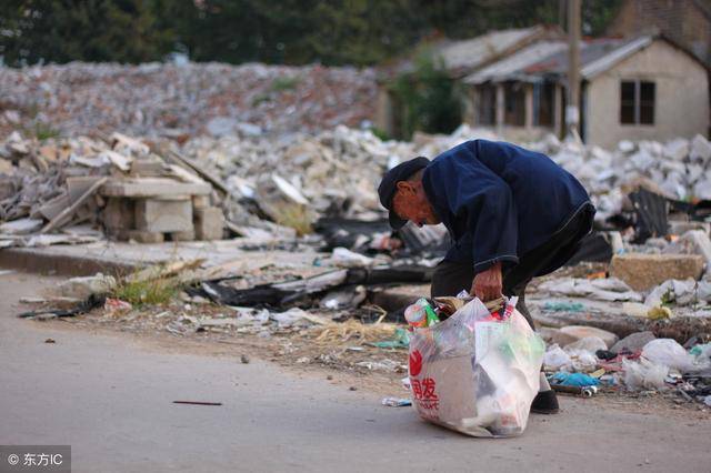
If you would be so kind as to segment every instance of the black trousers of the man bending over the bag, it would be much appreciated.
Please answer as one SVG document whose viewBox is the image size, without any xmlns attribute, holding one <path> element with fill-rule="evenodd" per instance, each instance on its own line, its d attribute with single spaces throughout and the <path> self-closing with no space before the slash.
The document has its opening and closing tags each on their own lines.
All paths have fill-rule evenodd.
<svg viewBox="0 0 711 473">
<path fill-rule="evenodd" d="M 515 265 L 504 265 L 503 294 L 517 295 L 517 310 L 525 318 L 532 329 L 533 318 L 525 306 L 525 286 L 535 276 L 551 273 L 562 266 L 580 248 L 580 241 L 592 230 L 594 208 L 584 205 L 568 222 L 540 246 L 519 256 Z M 432 275 L 432 298 L 457 295 L 462 290 L 469 292 L 474 280 L 472 262 L 443 260 Z"/>
</svg>

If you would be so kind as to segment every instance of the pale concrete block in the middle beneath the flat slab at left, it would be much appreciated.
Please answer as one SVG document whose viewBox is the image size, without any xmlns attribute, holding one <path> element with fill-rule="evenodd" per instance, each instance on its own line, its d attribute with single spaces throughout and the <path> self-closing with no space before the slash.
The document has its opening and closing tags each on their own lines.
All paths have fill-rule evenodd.
<svg viewBox="0 0 711 473">
<path fill-rule="evenodd" d="M 149 232 L 186 232 L 192 227 L 190 200 L 138 199 L 136 201 L 136 228 Z"/>
</svg>

